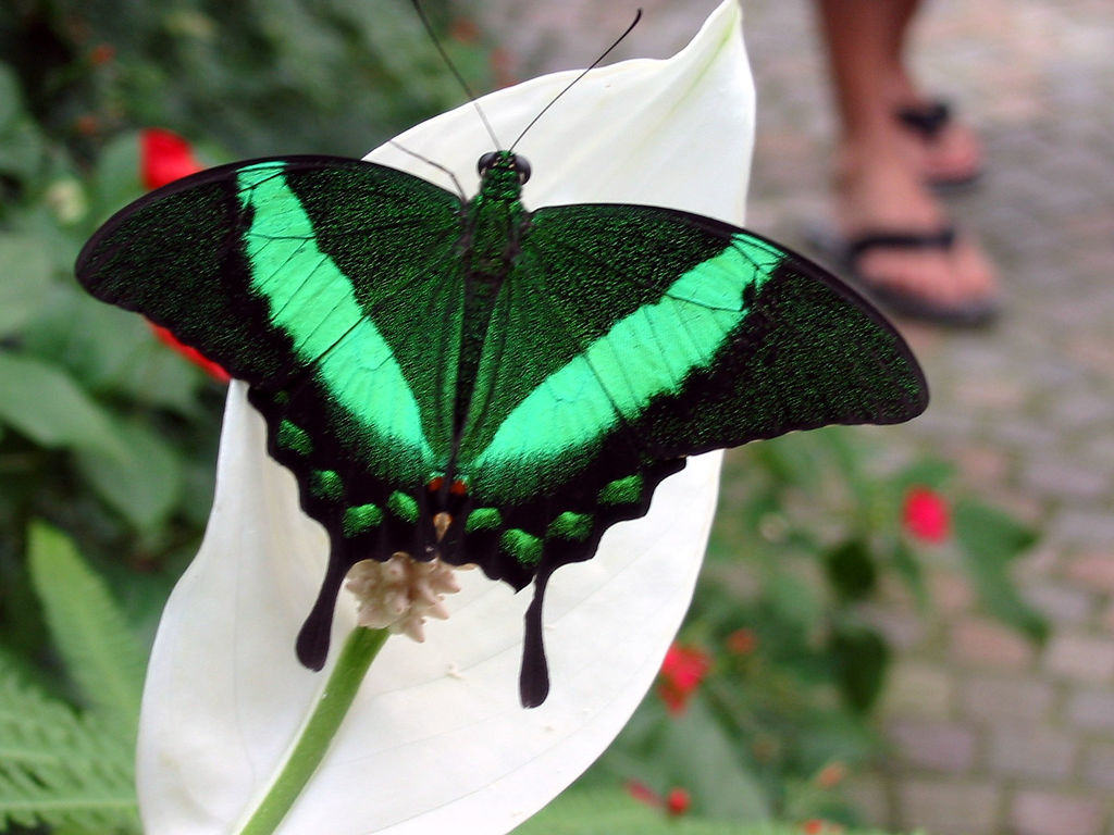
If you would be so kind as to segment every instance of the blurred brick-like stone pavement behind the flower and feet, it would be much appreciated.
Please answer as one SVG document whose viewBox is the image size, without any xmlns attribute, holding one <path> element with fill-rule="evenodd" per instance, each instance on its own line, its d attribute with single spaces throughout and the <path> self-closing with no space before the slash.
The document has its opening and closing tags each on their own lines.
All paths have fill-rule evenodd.
<svg viewBox="0 0 1114 835">
<path fill-rule="evenodd" d="M 582 66 L 636 4 L 624 55 L 665 56 L 713 0 L 487 0 L 483 27 L 521 76 Z M 932 404 L 887 431 L 955 461 L 967 485 L 1037 524 L 1019 567 L 1053 625 L 1043 650 L 932 568 L 940 615 L 895 602 L 892 757 L 854 792 L 881 824 L 930 832 L 1114 835 L 1114 9 L 1108 0 L 940 0 L 916 66 L 980 130 L 988 170 L 949 198 L 1005 277 L 993 331 L 906 326 Z M 759 88 L 749 225 L 802 245 L 824 213 L 831 119 L 805 0 L 745 8 Z M 803 245 L 802 245 L 803 246 Z"/>
</svg>

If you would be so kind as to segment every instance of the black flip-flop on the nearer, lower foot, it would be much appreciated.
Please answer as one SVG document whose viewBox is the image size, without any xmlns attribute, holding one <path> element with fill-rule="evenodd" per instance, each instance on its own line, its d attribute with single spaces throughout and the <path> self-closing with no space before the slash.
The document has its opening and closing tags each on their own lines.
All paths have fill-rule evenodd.
<svg viewBox="0 0 1114 835">
<path fill-rule="evenodd" d="M 842 238 L 831 229 L 818 226 L 807 229 L 805 236 L 809 243 L 839 266 L 848 281 L 899 316 L 951 327 L 979 327 L 998 315 L 998 301 L 994 297 L 947 304 L 891 282 L 866 276 L 859 271 L 860 259 L 871 249 L 950 249 L 956 243 L 956 230 L 950 226 L 935 233 L 871 232 L 850 238 Z"/>
</svg>

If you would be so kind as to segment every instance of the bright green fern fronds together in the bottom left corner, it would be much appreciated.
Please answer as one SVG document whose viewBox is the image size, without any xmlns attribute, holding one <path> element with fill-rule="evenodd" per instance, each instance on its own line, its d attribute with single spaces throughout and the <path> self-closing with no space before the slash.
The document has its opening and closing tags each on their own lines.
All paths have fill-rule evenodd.
<svg viewBox="0 0 1114 835">
<path fill-rule="evenodd" d="M 0 828 L 138 833 L 134 750 L 145 654 L 69 539 L 41 522 L 29 539 L 37 598 L 69 675 L 63 700 L 0 649 Z"/>
</svg>

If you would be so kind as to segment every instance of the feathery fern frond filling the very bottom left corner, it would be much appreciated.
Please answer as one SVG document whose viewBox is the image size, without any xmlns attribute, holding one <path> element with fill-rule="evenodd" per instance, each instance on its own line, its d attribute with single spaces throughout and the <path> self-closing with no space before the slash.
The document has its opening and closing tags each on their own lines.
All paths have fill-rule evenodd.
<svg viewBox="0 0 1114 835">
<path fill-rule="evenodd" d="M 133 747 L 29 685 L 0 652 L 0 828 L 139 833 Z"/>
</svg>

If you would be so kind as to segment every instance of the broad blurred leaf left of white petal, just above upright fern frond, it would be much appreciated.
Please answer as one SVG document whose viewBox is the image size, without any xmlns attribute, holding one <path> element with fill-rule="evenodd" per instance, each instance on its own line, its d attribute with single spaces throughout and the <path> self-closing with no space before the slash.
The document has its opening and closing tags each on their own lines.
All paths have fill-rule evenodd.
<svg viewBox="0 0 1114 835">
<path fill-rule="evenodd" d="M 124 458 L 96 450 L 78 452 L 81 475 L 133 525 L 153 529 L 163 522 L 182 494 L 183 472 L 177 453 L 146 424 L 125 424 Z"/>
</svg>

